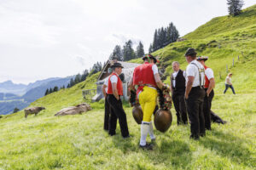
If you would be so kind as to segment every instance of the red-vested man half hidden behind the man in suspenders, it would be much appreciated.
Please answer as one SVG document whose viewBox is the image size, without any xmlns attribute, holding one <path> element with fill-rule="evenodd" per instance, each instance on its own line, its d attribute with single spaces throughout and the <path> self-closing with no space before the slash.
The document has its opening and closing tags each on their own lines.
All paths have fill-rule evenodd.
<svg viewBox="0 0 256 170">
<path fill-rule="evenodd" d="M 205 61 L 208 59 L 208 57 L 198 57 L 196 60 L 198 60 L 201 65 L 204 66 L 205 68 L 205 91 L 206 91 L 206 96 L 204 99 L 204 106 L 203 106 L 203 111 L 204 111 L 204 117 L 205 117 L 205 127 L 207 130 L 211 130 L 211 107 L 212 107 L 212 99 L 214 96 L 214 91 L 213 88 L 215 86 L 215 80 L 214 80 L 214 75 L 213 71 L 211 68 L 207 67 L 205 64 Z"/>
</svg>

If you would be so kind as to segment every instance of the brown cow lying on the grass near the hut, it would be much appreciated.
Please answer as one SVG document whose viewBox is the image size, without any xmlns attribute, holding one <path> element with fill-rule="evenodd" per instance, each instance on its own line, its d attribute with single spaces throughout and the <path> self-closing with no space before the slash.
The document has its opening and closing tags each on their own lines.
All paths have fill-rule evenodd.
<svg viewBox="0 0 256 170">
<path fill-rule="evenodd" d="M 66 115 L 76 115 L 82 114 L 83 112 L 90 111 L 91 107 L 89 104 L 83 103 L 76 106 L 67 107 L 58 111 L 55 116 L 66 116 Z"/>
</svg>

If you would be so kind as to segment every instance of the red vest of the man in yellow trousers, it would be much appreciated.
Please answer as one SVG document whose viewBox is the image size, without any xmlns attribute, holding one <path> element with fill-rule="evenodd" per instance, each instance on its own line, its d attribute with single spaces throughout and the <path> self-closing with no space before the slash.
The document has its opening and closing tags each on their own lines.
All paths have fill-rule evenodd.
<svg viewBox="0 0 256 170">
<path fill-rule="evenodd" d="M 133 85 L 150 84 L 156 88 L 157 85 L 152 71 L 153 65 L 154 64 L 145 63 L 137 66 L 133 71 Z"/>
</svg>

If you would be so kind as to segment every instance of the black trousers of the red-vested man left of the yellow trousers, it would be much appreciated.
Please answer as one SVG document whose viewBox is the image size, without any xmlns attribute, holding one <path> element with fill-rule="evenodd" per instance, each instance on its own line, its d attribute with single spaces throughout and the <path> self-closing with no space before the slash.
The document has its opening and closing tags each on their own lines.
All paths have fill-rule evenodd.
<svg viewBox="0 0 256 170">
<path fill-rule="evenodd" d="M 117 119 L 119 119 L 119 126 L 123 137 L 129 136 L 129 130 L 126 120 L 126 114 L 123 109 L 122 100 L 117 100 L 113 94 L 108 94 L 108 103 L 110 105 L 110 118 L 108 133 L 110 135 L 115 134 Z"/>
</svg>

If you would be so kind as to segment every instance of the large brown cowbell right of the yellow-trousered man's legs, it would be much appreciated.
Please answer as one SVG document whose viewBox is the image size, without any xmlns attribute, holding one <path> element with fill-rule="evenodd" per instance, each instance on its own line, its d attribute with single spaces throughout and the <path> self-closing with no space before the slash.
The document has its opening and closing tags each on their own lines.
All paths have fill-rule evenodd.
<svg viewBox="0 0 256 170">
<path fill-rule="evenodd" d="M 165 133 L 172 125 L 172 113 L 169 110 L 160 109 L 154 115 L 154 127 Z"/>
</svg>

